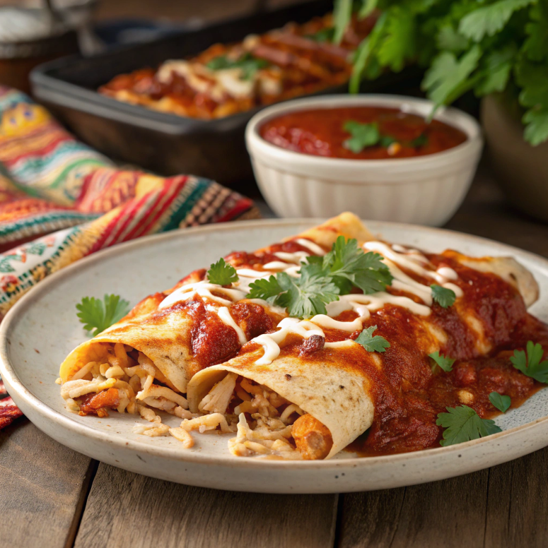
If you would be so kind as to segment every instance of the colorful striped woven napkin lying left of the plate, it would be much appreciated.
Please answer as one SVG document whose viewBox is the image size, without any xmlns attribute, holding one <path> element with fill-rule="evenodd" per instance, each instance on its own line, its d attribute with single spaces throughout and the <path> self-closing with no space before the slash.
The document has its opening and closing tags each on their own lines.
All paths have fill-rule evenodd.
<svg viewBox="0 0 548 548">
<path fill-rule="evenodd" d="M 257 218 L 252 201 L 193 177 L 116 167 L 47 110 L 0 87 L 0 319 L 31 287 L 119 242 Z M 0 429 L 21 416 L 0 381 Z"/>
</svg>

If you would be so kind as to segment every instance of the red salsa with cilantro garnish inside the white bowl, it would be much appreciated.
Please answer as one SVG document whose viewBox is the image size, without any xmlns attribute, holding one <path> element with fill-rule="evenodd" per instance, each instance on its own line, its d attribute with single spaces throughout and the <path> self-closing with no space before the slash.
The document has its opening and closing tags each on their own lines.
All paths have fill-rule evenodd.
<svg viewBox="0 0 548 548">
<path fill-rule="evenodd" d="M 442 121 L 387 107 L 307 109 L 274 117 L 260 135 L 293 152 L 385 160 L 441 153 L 467 140 L 466 133 Z"/>
</svg>

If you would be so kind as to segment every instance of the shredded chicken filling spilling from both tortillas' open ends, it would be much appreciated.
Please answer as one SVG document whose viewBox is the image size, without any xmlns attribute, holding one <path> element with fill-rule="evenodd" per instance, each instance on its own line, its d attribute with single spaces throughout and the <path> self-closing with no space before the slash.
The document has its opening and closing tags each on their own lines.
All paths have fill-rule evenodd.
<svg viewBox="0 0 548 548">
<path fill-rule="evenodd" d="M 286 459 L 325 458 L 332 447 L 330 431 L 267 386 L 235 373 L 216 383 L 198 405 L 188 410 L 151 359 L 116 343 L 102 362 L 88 362 L 62 384 L 66 407 L 80 415 L 107 417 L 108 410 L 139 415 L 136 434 L 173 436 L 183 448 L 194 446 L 192 432 L 235 433 L 228 448 L 236 456 Z M 173 388 L 172 388 L 173 387 Z M 158 411 L 182 419 L 179 427 L 163 424 Z"/>
</svg>

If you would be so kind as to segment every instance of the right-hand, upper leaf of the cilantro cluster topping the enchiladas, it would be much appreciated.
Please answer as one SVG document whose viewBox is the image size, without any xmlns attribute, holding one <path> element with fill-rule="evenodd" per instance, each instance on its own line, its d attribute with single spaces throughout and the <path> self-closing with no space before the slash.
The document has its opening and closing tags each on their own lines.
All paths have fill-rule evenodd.
<svg viewBox="0 0 548 548">
<path fill-rule="evenodd" d="M 323 258 L 323 269 L 328 271 L 342 293 L 349 293 L 354 285 L 365 294 L 385 290 L 392 283 L 392 275 L 383 256 L 369 251 L 364 253 L 356 239 L 339 236 L 332 250 Z"/>
</svg>

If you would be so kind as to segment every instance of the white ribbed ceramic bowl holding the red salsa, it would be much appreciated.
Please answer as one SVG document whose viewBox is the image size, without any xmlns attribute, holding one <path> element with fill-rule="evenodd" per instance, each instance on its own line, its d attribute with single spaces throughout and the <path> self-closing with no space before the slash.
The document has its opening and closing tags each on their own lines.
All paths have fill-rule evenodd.
<svg viewBox="0 0 548 548">
<path fill-rule="evenodd" d="M 265 141 L 268 119 L 305 109 L 399 107 L 426 117 L 432 103 L 398 95 L 330 95 L 291 100 L 263 109 L 247 124 L 245 142 L 257 184 L 281 217 L 332 217 L 352 211 L 363 219 L 443 225 L 455 213 L 482 152 L 476 120 L 455 108 L 436 119 L 464 131 L 467 141 L 441 153 L 390 160 L 346 160 L 296 153 Z"/>
</svg>

